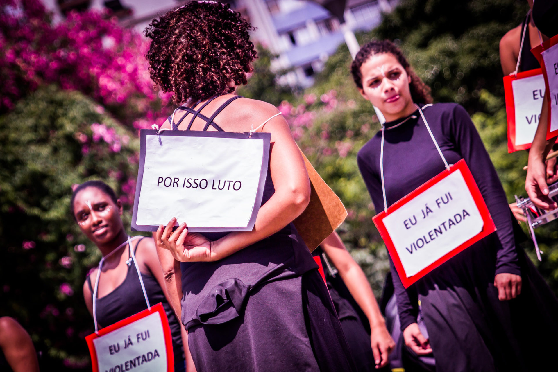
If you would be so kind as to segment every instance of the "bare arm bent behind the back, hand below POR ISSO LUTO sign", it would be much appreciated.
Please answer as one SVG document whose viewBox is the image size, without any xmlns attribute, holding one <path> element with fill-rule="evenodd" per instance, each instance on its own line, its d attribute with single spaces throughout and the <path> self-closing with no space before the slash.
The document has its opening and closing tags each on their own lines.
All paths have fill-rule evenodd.
<svg viewBox="0 0 558 372">
<path fill-rule="evenodd" d="M 275 107 L 266 105 L 262 108 L 266 117 L 278 113 Z M 222 259 L 276 233 L 304 211 L 310 200 L 310 181 L 287 122 L 276 117 L 263 131 L 271 132 L 270 169 L 275 194 L 259 209 L 254 229 L 233 232 L 210 242 L 200 234 L 188 234 L 185 222 L 172 233 L 176 220 L 171 219 L 166 228 L 160 226 L 156 239 L 162 240 L 175 259 L 183 262 Z"/>
</svg>

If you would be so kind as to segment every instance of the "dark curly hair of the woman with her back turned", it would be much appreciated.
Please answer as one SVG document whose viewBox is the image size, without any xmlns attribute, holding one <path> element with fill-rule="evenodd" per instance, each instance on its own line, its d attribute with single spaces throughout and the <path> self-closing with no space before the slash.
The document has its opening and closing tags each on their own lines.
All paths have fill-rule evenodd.
<svg viewBox="0 0 558 372">
<path fill-rule="evenodd" d="M 151 38 L 151 79 L 176 103 L 232 93 L 231 83 L 247 83 L 256 58 L 248 30 L 229 4 L 193 1 L 167 12 L 143 32 Z"/>
</svg>

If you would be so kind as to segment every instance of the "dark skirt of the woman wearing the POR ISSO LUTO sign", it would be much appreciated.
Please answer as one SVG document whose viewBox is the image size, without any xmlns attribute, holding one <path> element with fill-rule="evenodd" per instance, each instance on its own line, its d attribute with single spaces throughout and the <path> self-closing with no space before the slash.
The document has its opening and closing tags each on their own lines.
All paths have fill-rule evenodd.
<svg viewBox="0 0 558 372">
<path fill-rule="evenodd" d="M 191 327 L 188 344 L 198 372 L 355 370 L 316 269 L 263 284 L 240 316 Z"/>
</svg>

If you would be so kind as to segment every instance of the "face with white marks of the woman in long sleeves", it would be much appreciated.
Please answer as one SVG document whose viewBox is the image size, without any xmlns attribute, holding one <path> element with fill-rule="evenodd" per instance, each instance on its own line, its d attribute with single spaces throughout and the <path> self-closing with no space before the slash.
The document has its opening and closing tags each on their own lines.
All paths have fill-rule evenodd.
<svg viewBox="0 0 558 372">
<path fill-rule="evenodd" d="M 360 66 L 360 94 L 383 113 L 387 121 L 415 111 L 409 83 L 411 77 L 391 53 L 371 55 Z"/>
</svg>

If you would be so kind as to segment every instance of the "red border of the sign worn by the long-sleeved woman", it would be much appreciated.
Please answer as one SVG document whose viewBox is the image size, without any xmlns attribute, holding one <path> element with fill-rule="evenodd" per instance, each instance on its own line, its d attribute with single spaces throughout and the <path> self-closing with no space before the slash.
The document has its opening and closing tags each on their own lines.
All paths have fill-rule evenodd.
<svg viewBox="0 0 558 372">
<path fill-rule="evenodd" d="M 435 183 L 440 182 L 443 178 L 448 177 L 449 175 L 451 175 L 451 173 L 454 173 L 456 171 L 461 171 L 465 183 L 469 187 L 469 190 L 471 191 L 473 200 L 475 201 L 475 204 L 479 209 L 480 216 L 482 217 L 484 222 L 483 230 L 480 231 L 479 234 L 473 236 L 473 238 L 459 245 L 459 247 L 456 247 L 455 249 L 451 250 L 451 252 L 446 253 L 444 256 L 437 259 L 435 262 L 431 263 L 426 268 L 420 270 L 420 272 L 416 273 L 412 277 L 407 278 L 407 274 L 405 273 L 405 269 L 403 269 L 403 264 L 401 263 L 401 259 L 397 254 L 395 245 L 393 245 L 393 241 L 391 240 L 387 232 L 386 226 L 383 224 L 383 219 L 386 218 L 386 216 L 388 216 L 389 214 L 399 209 L 400 207 L 402 207 L 403 205 L 407 204 L 408 201 L 418 196 L 426 189 L 429 189 L 430 187 L 435 185 Z M 496 225 L 494 225 L 494 221 L 492 220 L 492 216 L 490 216 L 488 207 L 484 202 L 482 195 L 480 194 L 480 190 L 479 187 L 477 186 L 477 182 L 475 182 L 473 175 L 471 174 L 471 171 L 469 170 L 469 167 L 465 163 L 464 159 L 461 159 L 460 161 L 452 165 L 449 170 L 442 171 L 439 175 L 436 175 L 435 177 L 431 178 L 429 181 L 417 187 L 417 189 L 413 190 L 410 194 L 396 201 L 393 205 L 391 205 L 387 209 L 387 213 L 386 211 L 382 211 L 378 213 L 376 216 L 372 218 L 372 221 L 374 221 L 376 228 L 378 229 L 380 235 L 382 236 L 382 239 L 384 240 L 384 243 L 386 244 L 389 255 L 391 256 L 393 263 L 395 264 L 397 273 L 399 274 L 399 277 L 401 278 L 401 282 L 403 283 L 403 287 L 405 288 L 408 288 L 409 286 L 411 286 L 411 284 L 415 283 L 417 280 L 424 277 L 426 274 L 428 274 L 435 268 L 439 267 L 442 263 L 454 257 L 456 254 L 460 253 L 465 248 L 470 247 L 470 245 L 477 243 L 477 241 L 479 241 L 480 239 L 483 239 L 485 236 L 492 234 L 494 231 L 496 231 Z"/>
</svg>

